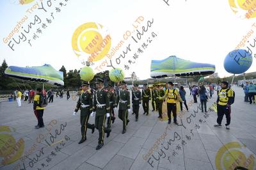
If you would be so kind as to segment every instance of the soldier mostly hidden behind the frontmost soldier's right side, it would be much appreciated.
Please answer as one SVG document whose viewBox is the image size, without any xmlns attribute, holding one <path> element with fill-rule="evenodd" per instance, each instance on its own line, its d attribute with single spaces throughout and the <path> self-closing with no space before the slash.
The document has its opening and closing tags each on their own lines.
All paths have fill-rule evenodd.
<svg viewBox="0 0 256 170">
<path fill-rule="evenodd" d="M 110 128 L 111 121 L 112 123 L 114 123 L 116 119 L 115 113 L 114 113 L 114 104 L 115 104 L 116 97 L 115 97 L 113 86 L 111 84 L 108 84 L 108 97 L 109 97 L 109 105 L 110 105 L 110 112 L 109 112 L 110 116 L 108 118 L 107 125 L 108 125 L 108 128 Z"/>
</svg>

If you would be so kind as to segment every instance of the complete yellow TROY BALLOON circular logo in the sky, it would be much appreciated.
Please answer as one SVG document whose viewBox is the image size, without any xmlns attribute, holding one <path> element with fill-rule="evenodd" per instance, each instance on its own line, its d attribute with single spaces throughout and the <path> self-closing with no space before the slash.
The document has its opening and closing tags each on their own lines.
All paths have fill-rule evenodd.
<svg viewBox="0 0 256 170">
<path fill-rule="evenodd" d="M 74 31 L 72 48 L 81 61 L 99 61 L 108 54 L 111 37 L 102 25 L 87 22 Z"/>
</svg>

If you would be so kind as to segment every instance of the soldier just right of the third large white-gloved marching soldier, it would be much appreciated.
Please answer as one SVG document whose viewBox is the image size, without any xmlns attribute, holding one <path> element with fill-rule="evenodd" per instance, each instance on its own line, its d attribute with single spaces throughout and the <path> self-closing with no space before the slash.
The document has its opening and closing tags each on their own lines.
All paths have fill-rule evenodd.
<svg viewBox="0 0 256 170">
<path fill-rule="evenodd" d="M 138 84 L 134 84 L 134 90 L 132 91 L 132 107 L 136 114 L 135 121 L 138 121 L 139 118 L 139 109 L 141 105 L 141 92 L 138 89 Z"/>
</svg>

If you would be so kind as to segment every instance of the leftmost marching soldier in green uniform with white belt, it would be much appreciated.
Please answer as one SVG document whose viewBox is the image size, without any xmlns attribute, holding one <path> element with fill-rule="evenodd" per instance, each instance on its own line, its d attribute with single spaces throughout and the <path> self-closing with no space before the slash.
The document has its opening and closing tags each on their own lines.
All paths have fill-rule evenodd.
<svg viewBox="0 0 256 170">
<path fill-rule="evenodd" d="M 90 114 L 92 113 L 92 93 L 88 89 L 89 84 L 85 82 L 82 84 L 81 88 L 83 89 L 83 93 L 79 96 L 77 101 L 76 109 L 74 111 L 74 115 L 77 114 L 77 111 L 80 109 L 80 123 L 81 123 L 81 134 L 82 139 L 79 141 L 78 144 L 83 143 L 86 141 L 86 132 L 87 128 L 92 129 L 92 133 L 95 130 L 95 126 L 88 123 Z"/>
</svg>

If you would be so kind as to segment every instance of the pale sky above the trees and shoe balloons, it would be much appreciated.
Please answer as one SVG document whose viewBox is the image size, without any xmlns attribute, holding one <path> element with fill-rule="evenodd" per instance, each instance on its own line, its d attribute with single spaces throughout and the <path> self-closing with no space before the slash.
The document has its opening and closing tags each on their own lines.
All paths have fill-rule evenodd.
<svg viewBox="0 0 256 170">
<path fill-rule="evenodd" d="M 151 59 L 164 59 L 173 55 L 190 61 L 212 63 L 216 65 L 216 72 L 221 77 L 228 76 L 230 73 L 223 67 L 225 56 L 236 48 L 255 22 L 255 19 L 239 19 L 230 9 L 228 0 L 170 0 L 170 6 L 163 0 L 68 0 L 67 6 L 60 7 L 60 13 L 56 13 L 55 7 L 60 6 L 61 1 L 65 3 L 64 0 L 52 0 L 51 7 L 43 0 L 47 12 L 35 9 L 31 14 L 26 10 L 36 3 L 40 4 L 40 1 L 23 5 L 13 3 L 14 1 L 0 1 L 0 59 L 6 59 L 8 65 L 15 66 L 40 66 L 47 63 L 57 70 L 62 65 L 67 70 L 79 69 L 83 65 L 72 50 L 71 43 L 72 35 L 78 26 L 86 22 L 100 23 L 108 29 L 111 47 L 115 47 L 120 40 L 124 40 L 125 31 L 132 31 L 132 24 L 138 17 L 144 18 L 140 26 L 147 26 L 147 20 L 154 19 L 154 23 L 142 36 L 140 43 L 134 43 L 129 38 L 112 60 L 115 67 L 123 68 L 125 77 L 136 72 L 140 79 L 150 77 Z M 46 18 L 51 18 L 51 12 L 54 12 L 54 20 L 46 29 L 41 28 L 42 35 L 38 35 L 37 40 L 31 40 L 32 47 L 28 41 L 21 42 L 15 45 L 15 51 L 12 51 L 8 44 L 3 42 L 3 38 L 12 32 L 13 27 L 24 15 L 28 16 L 28 20 L 22 26 L 28 27 L 28 22 L 33 21 L 35 15 L 40 17 L 42 22 L 46 22 Z M 28 37 L 32 36 L 39 26 L 40 24 L 33 26 Z M 136 63 L 130 65 L 128 61 L 132 59 L 132 54 L 141 43 L 147 42 L 152 31 L 157 34 L 156 38 L 148 44 Z M 20 34 L 15 34 L 14 37 L 17 38 L 17 35 Z M 248 40 L 252 41 L 255 35 L 256 29 Z M 115 58 L 122 54 L 129 44 L 131 52 L 120 65 L 117 65 Z M 109 63 L 108 58 L 103 58 L 95 62 L 93 68 L 105 60 Z M 248 72 L 256 71 L 254 60 L 255 58 Z M 124 65 L 129 65 L 129 70 L 125 70 Z M 105 66 L 103 69 L 111 68 Z"/>
</svg>

